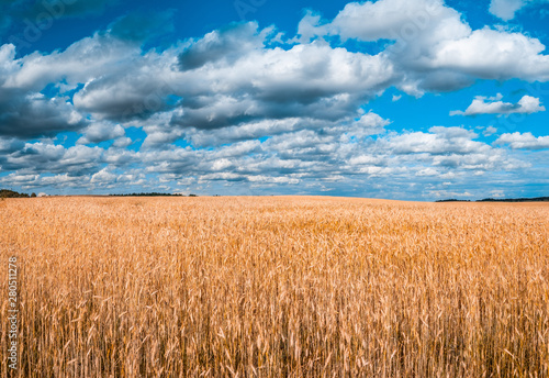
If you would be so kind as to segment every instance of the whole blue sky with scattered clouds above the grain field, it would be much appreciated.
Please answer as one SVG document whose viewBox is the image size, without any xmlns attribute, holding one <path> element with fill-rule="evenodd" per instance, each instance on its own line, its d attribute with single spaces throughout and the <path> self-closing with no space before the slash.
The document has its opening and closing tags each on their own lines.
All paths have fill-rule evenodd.
<svg viewBox="0 0 549 378">
<path fill-rule="evenodd" d="M 0 9 L 2 188 L 549 196 L 549 1 Z"/>
</svg>

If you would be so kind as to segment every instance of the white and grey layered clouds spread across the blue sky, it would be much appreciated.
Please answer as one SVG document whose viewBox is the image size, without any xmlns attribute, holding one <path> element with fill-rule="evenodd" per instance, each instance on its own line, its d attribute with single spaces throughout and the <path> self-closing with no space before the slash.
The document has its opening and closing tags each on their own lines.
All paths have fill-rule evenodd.
<svg viewBox="0 0 549 378">
<path fill-rule="evenodd" d="M 434 196 L 448 182 L 512 177 L 531 166 L 515 151 L 546 148 L 531 134 L 491 145 L 464 126 L 395 132 L 370 111 L 390 88 L 421 97 L 477 80 L 549 81 L 539 40 L 473 30 L 441 0 L 352 2 L 333 20 L 309 12 L 293 37 L 234 23 L 145 51 L 147 31 L 169 20 L 131 14 L 52 53 L 16 57 L 13 44 L 0 46 L 0 182 L 393 197 L 422 186 L 421 196 Z M 367 53 L 349 41 L 381 47 Z M 477 97 L 451 115 L 545 111 L 531 96 L 501 100 Z M 72 145 L 59 133 L 72 133 Z"/>
</svg>

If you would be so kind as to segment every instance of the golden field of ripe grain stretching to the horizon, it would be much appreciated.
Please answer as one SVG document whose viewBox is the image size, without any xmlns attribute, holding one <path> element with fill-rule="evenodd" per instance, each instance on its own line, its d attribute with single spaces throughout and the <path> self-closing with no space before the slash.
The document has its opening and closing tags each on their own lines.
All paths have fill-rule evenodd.
<svg viewBox="0 0 549 378">
<path fill-rule="evenodd" d="M 549 375 L 549 204 L 4 200 L 0 355 L 11 256 L 19 377 Z"/>
</svg>

